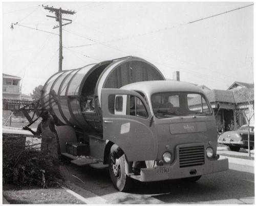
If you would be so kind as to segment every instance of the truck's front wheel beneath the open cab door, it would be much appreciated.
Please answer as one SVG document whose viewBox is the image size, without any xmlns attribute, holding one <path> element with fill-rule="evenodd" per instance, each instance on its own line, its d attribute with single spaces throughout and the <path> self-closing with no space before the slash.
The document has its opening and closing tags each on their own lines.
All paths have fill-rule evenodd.
<svg viewBox="0 0 256 206">
<path fill-rule="evenodd" d="M 113 145 L 110 149 L 109 172 L 117 190 L 124 192 L 131 189 L 132 179 L 125 173 L 125 155 L 117 145 Z"/>
</svg>

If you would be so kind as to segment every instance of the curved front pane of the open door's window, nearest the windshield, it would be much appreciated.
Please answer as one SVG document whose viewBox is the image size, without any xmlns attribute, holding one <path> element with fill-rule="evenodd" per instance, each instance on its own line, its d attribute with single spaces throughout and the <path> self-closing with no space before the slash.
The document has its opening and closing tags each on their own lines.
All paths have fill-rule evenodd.
<svg viewBox="0 0 256 206">
<path fill-rule="evenodd" d="M 143 102 L 136 96 L 130 97 L 130 113 L 128 115 L 147 118 L 146 108 Z"/>
</svg>

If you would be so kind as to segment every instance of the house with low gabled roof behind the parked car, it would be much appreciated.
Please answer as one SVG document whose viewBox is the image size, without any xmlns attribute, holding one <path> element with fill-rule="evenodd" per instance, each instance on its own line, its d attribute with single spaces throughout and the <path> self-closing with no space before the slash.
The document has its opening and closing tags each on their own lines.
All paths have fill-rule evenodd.
<svg viewBox="0 0 256 206">
<path fill-rule="evenodd" d="M 205 94 L 215 111 L 217 126 L 224 125 L 224 131 L 228 131 L 231 125 L 237 128 L 248 124 L 251 116 L 250 124 L 254 124 L 253 84 L 234 82 L 227 90 L 212 89 Z"/>
</svg>

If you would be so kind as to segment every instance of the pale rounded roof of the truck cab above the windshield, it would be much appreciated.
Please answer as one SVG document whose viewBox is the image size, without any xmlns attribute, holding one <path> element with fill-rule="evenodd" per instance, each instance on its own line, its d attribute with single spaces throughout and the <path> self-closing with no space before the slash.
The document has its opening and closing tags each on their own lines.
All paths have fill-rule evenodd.
<svg viewBox="0 0 256 206">
<path fill-rule="evenodd" d="M 125 85 L 120 89 L 141 91 L 148 96 L 158 92 L 204 92 L 193 84 L 176 81 L 146 81 Z"/>
</svg>

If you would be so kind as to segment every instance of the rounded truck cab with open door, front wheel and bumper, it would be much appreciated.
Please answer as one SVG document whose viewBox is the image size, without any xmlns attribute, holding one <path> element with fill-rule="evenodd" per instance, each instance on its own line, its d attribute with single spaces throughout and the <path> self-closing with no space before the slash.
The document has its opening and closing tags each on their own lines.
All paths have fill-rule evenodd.
<svg viewBox="0 0 256 206">
<path fill-rule="evenodd" d="M 197 181 L 228 169 L 227 159 L 218 160 L 214 112 L 194 85 L 138 82 L 102 89 L 101 101 L 103 163 L 119 191 L 129 189 L 131 178 Z"/>
</svg>

